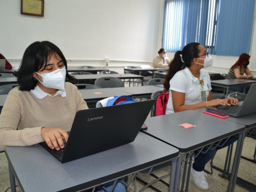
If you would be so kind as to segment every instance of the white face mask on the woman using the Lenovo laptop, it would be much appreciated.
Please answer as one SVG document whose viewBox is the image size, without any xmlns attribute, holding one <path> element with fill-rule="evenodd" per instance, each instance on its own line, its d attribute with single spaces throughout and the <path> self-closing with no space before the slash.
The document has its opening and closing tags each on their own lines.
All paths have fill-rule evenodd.
<svg viewBox="0 0 256 192">
<path fill-rule="evenodd" d="M 57 69 L 50 73 L 37 73 L 43 78 L 41 82 L 38 78 L 37 80 L 47 88 L 58 89 L 61 91 L 65 90 L 65 80 L 66 80 L 66 68 Z"/>
</svg>

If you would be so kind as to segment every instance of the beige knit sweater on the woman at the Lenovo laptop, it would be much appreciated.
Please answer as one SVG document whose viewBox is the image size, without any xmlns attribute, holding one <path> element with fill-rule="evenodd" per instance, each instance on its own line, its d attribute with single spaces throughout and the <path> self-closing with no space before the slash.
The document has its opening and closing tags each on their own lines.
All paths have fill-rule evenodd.
<svg viewBox="0 0 256 192">
<path fill-rule="evenodd" d="M 76 86 L 65 83 L 66 97 L 37 99 L 29 91 L 12 89 L 0 115 L 0 151 L 5 146 L 26 146 L 42 142 L 41 128 L 71 129 L 76 111 L 88 109 Z"/>
</svg>

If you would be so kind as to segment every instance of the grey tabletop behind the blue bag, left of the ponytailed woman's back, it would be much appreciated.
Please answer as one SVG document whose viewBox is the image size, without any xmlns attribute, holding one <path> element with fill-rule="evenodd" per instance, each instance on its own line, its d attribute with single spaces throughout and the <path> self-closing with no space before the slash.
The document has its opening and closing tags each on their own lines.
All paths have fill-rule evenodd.
<svg viewBox="0 0 256 192">
<path fill-rule="evenodd" d="M 112 89 L 127 92 L 132 95 L 151 94 L 156 91 L 164 91 L 163 87 L 158 87 L 155 85 L 136 86 L 136 87 L 116 87 Z"/>
</svg>

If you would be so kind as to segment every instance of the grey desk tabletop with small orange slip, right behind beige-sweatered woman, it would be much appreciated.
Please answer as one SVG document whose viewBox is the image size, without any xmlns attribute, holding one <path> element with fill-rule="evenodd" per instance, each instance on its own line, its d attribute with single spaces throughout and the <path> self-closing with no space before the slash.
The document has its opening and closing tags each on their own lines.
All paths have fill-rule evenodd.
<svg viewBox="0 0 256 192">
<path fill-rule="evenodd" d="M 130 94 L 130 93 L 120 91 L 115 88 L 79 89 L 78 91 L 81 92 L 84 100 L 104 99 L 107 97 L 113 97 L 114 95 L 132 96 L 132 94 Z"/>
</svg>

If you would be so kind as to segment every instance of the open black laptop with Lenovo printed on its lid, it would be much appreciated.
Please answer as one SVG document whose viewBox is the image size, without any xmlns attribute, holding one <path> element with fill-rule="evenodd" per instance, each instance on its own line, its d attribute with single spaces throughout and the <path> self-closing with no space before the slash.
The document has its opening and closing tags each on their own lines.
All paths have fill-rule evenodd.
<svg viewBox="0 0 256 192">
<path fill-rule="evenodd" d="M 61 163 L 115 148 L 135 140 L 155 100 L 76 112 L 63 150 L 40 143 Z"/>
</svg>

